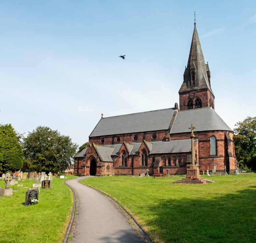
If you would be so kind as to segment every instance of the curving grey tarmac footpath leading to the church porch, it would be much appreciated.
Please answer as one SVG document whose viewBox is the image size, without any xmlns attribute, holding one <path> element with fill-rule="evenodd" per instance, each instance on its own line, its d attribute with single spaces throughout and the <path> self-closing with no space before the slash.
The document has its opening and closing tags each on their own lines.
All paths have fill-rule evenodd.
<svg viewBox="0 0 256 243">
<path fill-rule="evenodd" d="M 76 195 L 76 215 L 69 243 L 145 243 L 143 235 L 130 223 L 120 207 L 101 194 L 79 182 L 83 176 L 65 183 Z"/>
</svg>

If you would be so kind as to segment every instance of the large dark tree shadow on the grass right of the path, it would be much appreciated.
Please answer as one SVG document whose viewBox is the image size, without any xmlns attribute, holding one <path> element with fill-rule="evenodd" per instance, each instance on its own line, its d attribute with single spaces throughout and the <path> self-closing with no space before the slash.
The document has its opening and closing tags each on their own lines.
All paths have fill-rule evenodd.
<svg viewBox="0 0 256 243">
<path fill-rule="evenodd" d="M 156 199 L 145 224 L 165 242 L 256 242 L 256 190 L 198 199 Z M 160 233 L 160 234 L 159 234 Z"/>
</svg>

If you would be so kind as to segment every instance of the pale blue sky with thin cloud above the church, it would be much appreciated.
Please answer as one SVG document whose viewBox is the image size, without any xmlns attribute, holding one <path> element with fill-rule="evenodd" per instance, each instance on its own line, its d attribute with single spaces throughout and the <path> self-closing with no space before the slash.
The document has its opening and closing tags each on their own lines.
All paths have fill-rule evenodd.
<svg viewBox="0 0 256 243">
<path fill-rule="evenodd" d="M 2 0 L 0 123 L 82 145 L 101 113 L 174 107 L 194 11 L 216 112 L 232 129 L 256 116 L 255 0 Z"/>
</svg>

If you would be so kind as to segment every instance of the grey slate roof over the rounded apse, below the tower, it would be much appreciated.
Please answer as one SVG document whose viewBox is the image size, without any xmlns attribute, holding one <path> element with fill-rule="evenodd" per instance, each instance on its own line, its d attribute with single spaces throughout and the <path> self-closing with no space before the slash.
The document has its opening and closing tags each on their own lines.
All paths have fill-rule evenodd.
<svg viewBox="0 0 256 243">
<path fill-rule="evenodd" d="M 177 112 L 170 133 L 188 133 L 188 128 L 193 124 L 194 132 L 199 131 L 232 131 L 211 107 L 181 110 Z"/>
</svg>

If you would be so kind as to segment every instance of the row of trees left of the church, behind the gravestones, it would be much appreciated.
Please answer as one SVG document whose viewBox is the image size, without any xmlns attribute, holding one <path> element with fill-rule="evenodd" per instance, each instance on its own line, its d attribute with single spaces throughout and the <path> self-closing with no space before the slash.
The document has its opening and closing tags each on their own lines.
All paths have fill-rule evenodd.
<svg viewBox="0 0 256 243">
<path fill-rule="evenodd" d="M 78 148 L 69 136 L 47 126 L 38 126 L 23 137 L 11 124 L 1 125 L 0 171 L 63 172 L 74 163 L 74 156 L 85 146 Z"/>
</svg>

